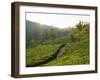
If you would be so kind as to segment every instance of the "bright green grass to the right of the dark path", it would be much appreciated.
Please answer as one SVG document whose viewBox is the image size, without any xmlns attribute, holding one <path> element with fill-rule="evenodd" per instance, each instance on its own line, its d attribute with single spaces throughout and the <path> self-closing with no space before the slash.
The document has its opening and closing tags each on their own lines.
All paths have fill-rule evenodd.
<svg viewBox="0 0 100 80">
<path fill-rule="evenodd" d="M 68 43 L 64 54 L 58 59 L 42 66 L 89 64 L 89 40 Z"/>
</svg>

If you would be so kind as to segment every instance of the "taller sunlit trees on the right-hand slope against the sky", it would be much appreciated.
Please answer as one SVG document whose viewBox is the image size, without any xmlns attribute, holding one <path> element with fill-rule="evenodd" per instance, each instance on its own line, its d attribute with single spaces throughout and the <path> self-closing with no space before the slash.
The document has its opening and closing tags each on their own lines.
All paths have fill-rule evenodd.
<svg viewBox="0 0 100 80">
<path fill-rule="evenodd" d="M 80 21 L 78 24 L 75 25 L 75 28 L 71 28 L 70 30 L 71 35 L 70 39 L 72 42 L 80 41 L 89 37 L 89 23 Z"/>
</svg>

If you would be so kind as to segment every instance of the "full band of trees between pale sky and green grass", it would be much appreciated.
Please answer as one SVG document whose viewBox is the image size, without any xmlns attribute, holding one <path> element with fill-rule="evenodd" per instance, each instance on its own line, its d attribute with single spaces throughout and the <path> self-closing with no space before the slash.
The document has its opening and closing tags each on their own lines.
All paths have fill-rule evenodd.
<svg viewBox="0 0 100 80">
<path fill-rule="evenodd" d="M 55 28 L 26 21 L 26 47 L 43 43 L 66 43 L 80 40 L 82 33 L 89 32 L 89 23 L 80 21 L 74 28 Z"/>
</svg>

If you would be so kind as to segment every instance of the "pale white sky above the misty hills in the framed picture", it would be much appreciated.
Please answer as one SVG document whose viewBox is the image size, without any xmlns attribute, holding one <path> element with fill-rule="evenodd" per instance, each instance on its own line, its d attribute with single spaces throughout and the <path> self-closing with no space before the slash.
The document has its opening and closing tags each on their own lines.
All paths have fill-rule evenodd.
<svg viewBox="0 0 100 80">
<path fill-rule="evenodd" d="M 26 19 L 40 23 L 40 25 L 50 25 L 58 28 L 68 28 L 76 25 L 79 21 L 89 22 L 89 16 L 85 15 L 60 15 L 43 13 L 26 13 Z"/>
</svg>

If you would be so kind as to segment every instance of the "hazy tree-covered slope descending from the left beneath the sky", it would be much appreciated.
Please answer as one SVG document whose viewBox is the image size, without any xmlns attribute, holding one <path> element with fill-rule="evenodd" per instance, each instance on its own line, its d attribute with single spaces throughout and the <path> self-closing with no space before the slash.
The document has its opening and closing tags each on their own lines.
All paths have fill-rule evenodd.
<svg viewBox="0 0 100 80">
<path fill-rule="evenodd" d="M 67 29 L 59 29 L 53 26 L 26 21 L 26 47 L 53 42 L 58 38 L 67 37 L 68 34 L 69 31 Z"/>
</svg>

